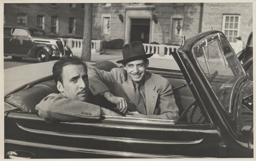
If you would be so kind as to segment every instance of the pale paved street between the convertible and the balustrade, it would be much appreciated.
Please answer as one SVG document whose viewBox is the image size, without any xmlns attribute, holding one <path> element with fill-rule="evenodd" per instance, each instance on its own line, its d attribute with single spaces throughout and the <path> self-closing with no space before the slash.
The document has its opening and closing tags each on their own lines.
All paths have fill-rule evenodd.
<svg viewBox="0 0 256 161">
<path fill-rule="evenodd" d="M 107 49 L 106 53 L 102 55 L 91 55 L 91 62 L 100 62 L 100 61 L 108 60 L 115 63 L 117 60 L 120 60 L 122 58 L 123 56 L 122 56 L 121 50 Z M 151 67 L 179 69 L 174 59 L 163 59 L 163 58 L 157 58 L 153 56 L 149 58 L 149 61 L 150 61 Z M 34 63 L 37 63 L 37 60 L 33 58 L 23 58 L 21 61 L 13 61 L 11 56 L 4 57 L 4 69 L 16 67 L 16 66 L 23 66 L 27 64 L 34 64 Z M 120 66 L 120 64 L 117 64 L 117 65 Z"/>
</svg>

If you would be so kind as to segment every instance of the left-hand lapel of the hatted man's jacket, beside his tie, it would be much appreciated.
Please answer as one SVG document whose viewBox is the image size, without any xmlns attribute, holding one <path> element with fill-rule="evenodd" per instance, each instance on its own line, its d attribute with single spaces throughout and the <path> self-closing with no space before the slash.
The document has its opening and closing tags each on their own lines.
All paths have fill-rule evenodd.
<svg viewBox="0 0 256 161">
<path fill-rule="evenodd" d="M 132 80 L 130 79 L 129 76 L 126 76 L 126 81 L 123 84 L 121 84 L 121 88 L 136 106 L 135 89 Z"/>
</svg>

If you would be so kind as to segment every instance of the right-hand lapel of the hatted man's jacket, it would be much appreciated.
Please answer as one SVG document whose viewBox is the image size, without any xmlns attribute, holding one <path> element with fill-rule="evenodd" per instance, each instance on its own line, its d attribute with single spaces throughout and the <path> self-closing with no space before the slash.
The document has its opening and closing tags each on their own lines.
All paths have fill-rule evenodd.
<svg viewBox="0 0 256 161">
<path fill-rule="evenodd" d="M 146 109 L 147 115 L 154 114 L 154 109 L 156 107 L 156 102 L 158 98 L 158 93 L 154 91 L 156 85 L 153 83 L 150 76 L 145 74 L 145 99 L 146 99 Z"/>
</svg>

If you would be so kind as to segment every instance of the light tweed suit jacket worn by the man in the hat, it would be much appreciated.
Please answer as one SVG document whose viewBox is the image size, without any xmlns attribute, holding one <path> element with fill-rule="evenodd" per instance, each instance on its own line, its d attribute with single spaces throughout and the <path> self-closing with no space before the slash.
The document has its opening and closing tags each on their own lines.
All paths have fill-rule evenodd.
<svg viewBox="0 0 256 161">
<path fill-rule="evenodd" d="M 89 89 L 93 95 L 110 91 L 113 95 L 126 99 L 129 111 L 136 111 L 135 89 L 124 68 L 113 68 L 111 72 L 106 72 L 88 66 L 88 76 Z M 144 82 L 147 115 L 135 114 L 133 117 L 177 120 L 178 107 L 169 81 L 157 74 L 146 72 Z"/>
</svg>

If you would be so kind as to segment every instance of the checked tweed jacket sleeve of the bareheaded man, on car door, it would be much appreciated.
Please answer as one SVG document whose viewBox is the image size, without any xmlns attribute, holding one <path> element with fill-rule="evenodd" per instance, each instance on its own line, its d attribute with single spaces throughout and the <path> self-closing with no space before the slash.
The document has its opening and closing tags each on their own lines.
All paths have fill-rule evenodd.
<svg viewBox="0 0 256 161">
<path fill-rule="evenodd" d="M 35 109 L 47 123 L 55 120 L 76 120 L 81 118 L 100 119 L 100 106 L 69 99 L 61 93 L 46 96 Z"/>
</svg>

